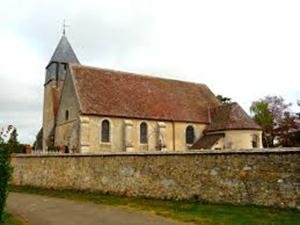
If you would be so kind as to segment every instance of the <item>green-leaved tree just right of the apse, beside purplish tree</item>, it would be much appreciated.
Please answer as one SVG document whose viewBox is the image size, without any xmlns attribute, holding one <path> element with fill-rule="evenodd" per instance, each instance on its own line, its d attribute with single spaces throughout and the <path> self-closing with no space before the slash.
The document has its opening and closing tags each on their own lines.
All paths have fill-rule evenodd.
<svg viewBox="0 0 300 225">
<path fill-rule="evenodd" d="M 265 147 L 273 147 L 274 123 L 273 115 L 269 110 L 269 104 L 264 100 L 253 102 L 250 111 L 254 114 L 254 121 L 262 128 L 262 141 Z"/>
</svg>

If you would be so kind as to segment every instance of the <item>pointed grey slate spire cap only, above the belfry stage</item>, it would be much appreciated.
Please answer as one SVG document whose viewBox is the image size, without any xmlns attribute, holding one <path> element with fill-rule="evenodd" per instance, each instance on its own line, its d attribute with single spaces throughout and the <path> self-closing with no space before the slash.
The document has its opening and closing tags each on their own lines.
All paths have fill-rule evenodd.
<svg viewBox="0 0 300 225">
<path fill-rule="evenodd" d="M 50 59 L 49 64 L 52 62 L 58 63 L 78 63 L 79 60 L 76 57 L 74 50 L 71 47 L 68 39 L 63 35 Z M 49 65 L 48 64 L 48 65 Z"/>
</svg>

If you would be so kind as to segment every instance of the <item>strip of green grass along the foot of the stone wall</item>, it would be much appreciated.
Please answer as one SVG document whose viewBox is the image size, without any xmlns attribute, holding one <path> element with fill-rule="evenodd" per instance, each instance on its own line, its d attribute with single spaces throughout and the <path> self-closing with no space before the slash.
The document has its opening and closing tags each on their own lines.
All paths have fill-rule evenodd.
<svg viewBox="0 0 300 225">
<path fill-rule="evenodd" d="M 128 198 L 90 192 L 48 190 L 32 187 L 12 187 L 11 190 L 97 204 L 130 207 L 201 225 L 300 225 L 300 211 L 294 209 Z"/>
</svg>

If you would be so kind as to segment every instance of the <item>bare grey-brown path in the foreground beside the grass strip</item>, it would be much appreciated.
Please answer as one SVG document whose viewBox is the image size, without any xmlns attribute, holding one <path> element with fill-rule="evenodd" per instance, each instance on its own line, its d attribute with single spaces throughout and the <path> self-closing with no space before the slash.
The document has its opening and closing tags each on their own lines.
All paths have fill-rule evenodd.
<svg viewBox="0 0 300 225">
<path fill-rule="evenodd" d="M 88 202 L 10 193 L 8 211 L 30 225 L 180 225 L 160 216 Z"/>
</svg>

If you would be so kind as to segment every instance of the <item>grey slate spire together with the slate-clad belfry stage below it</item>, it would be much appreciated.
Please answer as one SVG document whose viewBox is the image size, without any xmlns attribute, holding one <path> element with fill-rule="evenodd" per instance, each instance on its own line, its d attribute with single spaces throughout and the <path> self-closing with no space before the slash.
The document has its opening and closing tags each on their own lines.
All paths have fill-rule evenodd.
<svg viewBox="0 0 300 225">
<path fill-rule="evenodd" d="M 52 80 L 65 80 L 69 63 L 80 64 L 64 33 L 46 67 L 45 85 Z"/>
</svg>

